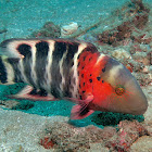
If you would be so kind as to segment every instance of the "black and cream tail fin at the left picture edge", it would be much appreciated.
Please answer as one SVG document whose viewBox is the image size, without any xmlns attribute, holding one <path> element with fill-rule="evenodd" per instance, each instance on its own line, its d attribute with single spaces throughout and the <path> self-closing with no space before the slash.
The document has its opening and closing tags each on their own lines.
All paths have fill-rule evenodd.
<svg viewBox="0 0 152 152">
<path fill-rule="evenodd" d="M 8 62 L 8 56 L 0 56 L 0 85 L 12 85 L 15 83 L 14 79 L 14 69 Z"/>
</svg>

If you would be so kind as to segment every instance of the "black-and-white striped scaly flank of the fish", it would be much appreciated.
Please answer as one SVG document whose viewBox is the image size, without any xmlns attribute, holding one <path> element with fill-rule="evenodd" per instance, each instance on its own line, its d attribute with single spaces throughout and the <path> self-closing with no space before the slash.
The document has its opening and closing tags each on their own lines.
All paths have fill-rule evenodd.
<svg viewBox="0 0 152 152">
<path fill-rule="evenodd" d="M 20 75 L 15 81 L 27 83 L 34 88 L 50 92 L 55 98 L 78 97 L 77 63 L 79 54 L 85 51 L 87 45 L 52 41 L 35 40 L 31 42 L 27 40 L 15 46 L 20 54 L 24 55 L 23 59 L 16 61 L 17 63 L 15 62 L 16 64 L 14 64 L 15 59 L 9 58 L 10 63 L 13 64 L 15 75 Z M 53 50 L 50 48 L 53 48 Z M 50 51 L 51 53 L 49 53 Z M 92 51 L 92 49 L 89 50 L 88 48 L 86 51 Z M 62 74 L 60 69 L 61 61 Z M 48 78 L 51 78 L 50 85 Z M 62 79 L 65 79 L 63 88 L 61 87 Z"/>
</svg>

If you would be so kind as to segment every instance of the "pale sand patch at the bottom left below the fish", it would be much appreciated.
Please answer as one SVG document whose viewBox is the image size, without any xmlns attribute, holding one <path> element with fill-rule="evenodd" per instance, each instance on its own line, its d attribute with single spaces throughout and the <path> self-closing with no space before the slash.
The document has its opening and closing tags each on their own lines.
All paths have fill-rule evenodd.
<svg viewBox="0 0 152 152">
<path fill-rule="evenodd" d="M 67 122 L 63 116 L 39 116 L 0 107 L 0 152 L 47 152 L 39 144 L 46 124 Z"/>
</svg>

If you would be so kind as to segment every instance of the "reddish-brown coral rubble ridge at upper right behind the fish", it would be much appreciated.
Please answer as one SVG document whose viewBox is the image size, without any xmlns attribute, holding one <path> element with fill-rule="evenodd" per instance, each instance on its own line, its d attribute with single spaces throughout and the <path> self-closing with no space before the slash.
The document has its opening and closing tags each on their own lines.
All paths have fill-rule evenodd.
<svg viewBox="0 0 152 152">
<path fill-rule="evenodd" d="M 98 34 L 97 35 L 98 42 L 99 45 L 112 45 L 115 47 L 115 46 L 119 46 L 121 42 L 124 43 L 125 39 L 130 39 L 129 41 L 131 40 L 139 41 L 138 40 L 139 38 L 132 36 L 132 33 L 136 28 L 142 29 L 147 23 L 148 23 L 148 14 L 136 15 L 132 20 L 124 22 L 111 30 L 105 30 L 102 34 Z M 147 41 L 150 40 L 151 39 L 149 40 L 147 39 Z"/>
</svg>

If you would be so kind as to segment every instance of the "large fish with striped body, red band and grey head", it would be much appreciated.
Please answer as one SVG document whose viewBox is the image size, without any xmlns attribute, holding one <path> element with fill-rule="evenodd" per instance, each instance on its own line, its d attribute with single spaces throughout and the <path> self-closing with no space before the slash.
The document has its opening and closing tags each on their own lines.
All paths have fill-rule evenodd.
<svg viewBox="0 0 152 152">
<path fill-rule="evenodd" d="M 94 111 L 141 115 L 148 100 L 131 73 L 92 43 L 69 39 L 8 39 L 0 45 L 0 85 L 27 84 L 14 99 L 69 100 L 71 119 Z"/>
</svg>

